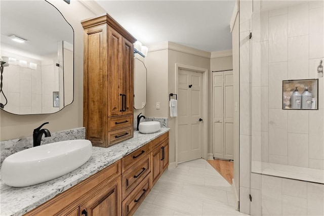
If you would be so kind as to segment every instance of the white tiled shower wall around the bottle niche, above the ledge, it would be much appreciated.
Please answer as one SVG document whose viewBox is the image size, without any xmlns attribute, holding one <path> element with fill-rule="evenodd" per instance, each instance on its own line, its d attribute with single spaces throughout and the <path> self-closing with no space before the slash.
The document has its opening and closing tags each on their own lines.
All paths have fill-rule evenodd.
<svg viewBox="0 0 324 216">
<path fill-rule="evenodd" d="M 282 80 L 318 78 L 323 26 L 323 4 L 314 1 L 253 13 L 252 149 L 262 154 L 252 159 L 324 169 L 323 77 L 319 110 L 282 110 Z"/>
</svg>

